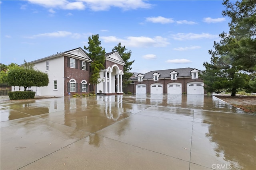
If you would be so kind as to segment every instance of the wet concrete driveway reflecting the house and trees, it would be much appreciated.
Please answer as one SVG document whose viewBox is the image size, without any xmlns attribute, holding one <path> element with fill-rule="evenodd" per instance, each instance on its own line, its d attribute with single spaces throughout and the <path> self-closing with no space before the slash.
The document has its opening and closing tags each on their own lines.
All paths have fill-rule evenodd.
<svg viewBox="0 0 256 170">
<path fill-rule="evenodd" d="M 256 169 L 256 117 L 205 95 L 1 104 L 1 170 Z"/>
</svg>

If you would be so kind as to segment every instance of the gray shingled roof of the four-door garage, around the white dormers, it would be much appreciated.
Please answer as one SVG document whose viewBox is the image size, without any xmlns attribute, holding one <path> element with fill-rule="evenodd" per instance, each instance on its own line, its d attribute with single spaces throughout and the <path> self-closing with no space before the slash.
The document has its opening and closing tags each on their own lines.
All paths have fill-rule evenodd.
<svg viewBox="0 0 256 170">
<path fill-rule="evenodd" d="M 172 71 L 176 71 L 178 72 L 177 77 L 186 77 L 186 76 L 191 76 L 190 71 L 193 70 L 194 68 L 175 68 L 175 69 L 168 69 L 168 70 L 154 70 L 154 71 L 150 71 L 147 72 L 144 75 L 144 77 L 142 79 L 150 79 L 153 78 L 153 75 L 155 72 L 157 72 L 158 74 L 161 74 L 158 78 L 170 78 L 170 72 Z M 138 78 L 132 78 L 131 80 L 137 80 Z"/>
</svg>

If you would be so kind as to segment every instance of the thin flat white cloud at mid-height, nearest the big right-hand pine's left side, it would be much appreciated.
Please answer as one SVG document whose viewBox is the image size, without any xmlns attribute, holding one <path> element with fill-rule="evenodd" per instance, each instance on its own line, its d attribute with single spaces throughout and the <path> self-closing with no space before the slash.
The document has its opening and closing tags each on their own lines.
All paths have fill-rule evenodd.
<svg viewBox="0 0 256 170">
<path fill-rule="evenodd" d="M 202 39 L 202 38 L 218 38 L 218 35 L 212 35 L 209 33 L 201 33 L 201 34 L 196 34 L 196 33 L 177 33 L 177 34 L 172 34 L 171 35 L 173 39 L 176 40 L 191 40 L 191 39 Z"/>
</svg>

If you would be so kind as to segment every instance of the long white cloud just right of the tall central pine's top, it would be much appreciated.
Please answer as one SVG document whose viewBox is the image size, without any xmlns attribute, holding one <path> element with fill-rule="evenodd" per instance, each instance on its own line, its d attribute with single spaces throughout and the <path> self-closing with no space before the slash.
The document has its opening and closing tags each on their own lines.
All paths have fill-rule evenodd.
<svg viewBox="0 0 256 170">
<path fill-rule="evenodd" d="M 114 36 L 101 37 L 106 43 L 119 43 L 125 44 L 127 47 L 166 47 L 170 44 L 166 38 L 156 36 L 150 37 L 126 37 L 120 39 Z"/>
</svg>

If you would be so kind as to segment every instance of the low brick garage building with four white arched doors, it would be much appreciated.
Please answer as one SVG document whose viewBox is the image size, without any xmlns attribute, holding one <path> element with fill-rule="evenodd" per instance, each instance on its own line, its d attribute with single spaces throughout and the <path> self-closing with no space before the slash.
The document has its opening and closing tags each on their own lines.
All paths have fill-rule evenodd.
<svg viewBox="0 0 256 170">
<path fill-rule="evenodd" d="M 124 92 L 133 94 L 204 94 L 204 82 L 196 68 L 155 70 L 131 78 Z"/>
</svg>

